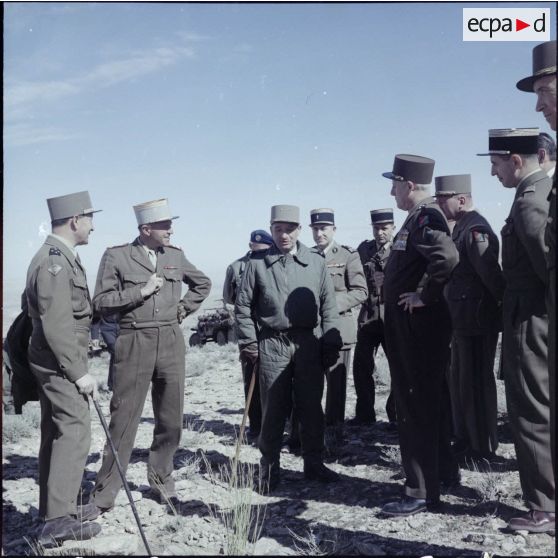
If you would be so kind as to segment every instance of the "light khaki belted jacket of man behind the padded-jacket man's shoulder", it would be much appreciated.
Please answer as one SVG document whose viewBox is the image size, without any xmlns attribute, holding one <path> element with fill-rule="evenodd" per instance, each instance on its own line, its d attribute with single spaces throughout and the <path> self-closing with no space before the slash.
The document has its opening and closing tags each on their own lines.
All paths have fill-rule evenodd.
<svg viewBox="0 0 558 558">
<path fill-rule="evenodd" d="M 315 246 L 315 250 L 318 248 Z M 344 345 L 356 343 L 356 323 L 352 309 L 366 300 L 368 288 L 356 250 L 332 242 L 325 253 L 326 266 L 333 281 L 339 309 L 341 338 Z"/>
</svg>

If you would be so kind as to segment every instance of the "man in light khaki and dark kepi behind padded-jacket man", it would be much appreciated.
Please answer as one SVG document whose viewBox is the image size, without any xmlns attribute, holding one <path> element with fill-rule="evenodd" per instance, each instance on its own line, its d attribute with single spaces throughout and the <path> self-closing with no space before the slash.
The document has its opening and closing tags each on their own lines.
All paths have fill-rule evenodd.
<svg viewBox="0 0 558 558">
<path fill-rule="evenodd" d="M 356 343 L 353 308 L 366 300 L 368 288 L 358 252 L 337 244 L 334 240 L 337 227 L 333 209 L 310 211 L 310 227 L 316 243 L 314 248 L 325 256 L 326 266 L 333 280 L 343 340 L 339 360 L 326 372 L 325 440 L 326 447 L 335 451 L 343 441 L 347 371 L 350 368 L 351 348 Z"/>
</svg>

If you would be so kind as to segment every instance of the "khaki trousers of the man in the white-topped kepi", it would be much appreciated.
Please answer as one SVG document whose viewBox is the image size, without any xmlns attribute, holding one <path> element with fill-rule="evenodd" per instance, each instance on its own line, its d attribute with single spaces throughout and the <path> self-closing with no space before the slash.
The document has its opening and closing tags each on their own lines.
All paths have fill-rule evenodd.
<svg viewBox="0 0 558 558">
<path fill-rule="evenodd" d="M 173 456 L 180 443 L 184 410 L 184 337 L 178 325 L 143 329 L 121 329 L 116 340 L 113 395 L 109 431 L 126 471 L 147 390 L 155 427 L 148 460 L 151 487 L 168 496 L 175 494 Z M 110 508 L 122 481 L 108 444 L 97 474 L 93 500 Z"/>
</svg>

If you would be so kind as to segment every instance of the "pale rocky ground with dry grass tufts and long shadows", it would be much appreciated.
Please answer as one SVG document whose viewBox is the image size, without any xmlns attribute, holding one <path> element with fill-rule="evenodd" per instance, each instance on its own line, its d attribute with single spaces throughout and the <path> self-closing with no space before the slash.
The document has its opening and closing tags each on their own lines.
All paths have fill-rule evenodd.
<svg viewBox="0 0 558 558">
<path fill-rule="evenodd" d="M 185 336 L 189 336 L 186 324 Z M 101 385 L 100 403 L 109 416 L 106 391 L 108 355 L 91 359 Z M 155 555 L 414 555 L 554 556 L 548 534 L 511 534 L 507 520 L 524 510 L 513 444 L 506 425 L 503 386 L 499 385 L 500 463 L 488 471 L 462 470 L 462 484 L 443 496 L 437 513 L 383 519 L 381 505 L 401 491 L 397 437 L 386 428 L 387 363 L 380 354 L 379 422 L 346 428 L 346 442 L 329 466 L 342 480 L 333 485 L 306 482 L 302 459 L 286 450 L 282 482 L 271 496 L 243 488 L 258 463 L 256 448 L 243 445 L 240 471 L 231 478 L 231 458 L 243 413 L 243 388 L 235 345 L 208 343 L 189 349 L 186 363 L 184 435 L 175 456 L 181 506 L 161 505 L 150 494 L 146 459 L 153 429 L 148 397 L 127 478 L 151 551 Z M 498 382 L 501 384 L 501 382 Z M 347 418 L 354 414 L 348 388 Z M 105 442 L 92 409 L 93 441 L 84 476 L 84 493 L 93 486 Z M 145 547 L 131 507 L 121 491 L 116 507 L 99 519 L 102 533 L 92 541 L 38 548 L 36 527 L 39 412 L 28 403 L 22 416 L 3 415 L 4 555 L 141 555 Z M 248 479 L 248 480 L 247 480 Z M 250 521 L 252 526 L 250 527 Z M 247 539 L 253 542 L 246 542 Z"/>
</svg>

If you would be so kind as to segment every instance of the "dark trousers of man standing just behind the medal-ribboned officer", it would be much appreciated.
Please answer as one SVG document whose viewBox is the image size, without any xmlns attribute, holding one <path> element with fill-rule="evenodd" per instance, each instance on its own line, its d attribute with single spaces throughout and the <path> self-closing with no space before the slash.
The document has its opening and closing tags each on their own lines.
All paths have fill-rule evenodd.
<svg viewBox="0 0 558 558">
<path fill-rule="evenodd" d="M 498 448 L 494 357 L 498 332 L 453 335 L 448 384 L 455 438 L 480 455 Z"/>
</svg>

